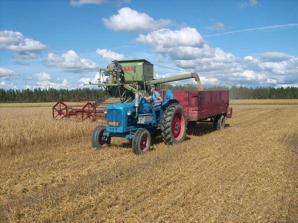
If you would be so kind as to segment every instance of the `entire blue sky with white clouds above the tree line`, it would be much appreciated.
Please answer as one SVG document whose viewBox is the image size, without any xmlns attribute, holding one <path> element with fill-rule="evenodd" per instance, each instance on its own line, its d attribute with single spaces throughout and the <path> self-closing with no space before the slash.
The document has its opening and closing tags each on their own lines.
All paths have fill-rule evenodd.
<svg viewBox="0 0 298 223">
<path fill-rule="evenodd" d="M 297 0 L 0 0 L 4 89 L 83 87 L 124 58 L 203 86 L 298 86 L 297 46 Z"/>
</svg>

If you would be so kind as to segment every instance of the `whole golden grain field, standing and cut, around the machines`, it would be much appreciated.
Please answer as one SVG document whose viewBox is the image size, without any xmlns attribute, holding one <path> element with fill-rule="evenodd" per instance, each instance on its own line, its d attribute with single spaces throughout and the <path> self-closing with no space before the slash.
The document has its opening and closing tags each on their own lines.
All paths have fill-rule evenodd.
<svg viewBox="0 0 298 223">
<path fill-rule="evenodd" d="M 1 222 L 298 222 L 298 100 L 232 100 L 226 128 L 91 148 L 94 122 L 0 104 Z"/>
</svg>

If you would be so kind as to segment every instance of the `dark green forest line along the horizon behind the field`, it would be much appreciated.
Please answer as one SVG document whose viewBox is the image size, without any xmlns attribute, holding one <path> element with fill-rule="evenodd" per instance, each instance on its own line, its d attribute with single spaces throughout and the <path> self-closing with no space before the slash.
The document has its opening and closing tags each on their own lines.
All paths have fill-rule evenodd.
<svg viewBox="0 0 298 223">
<path fill-rule="evenodd" d="M 169 85 L 173 91 L 197 90 L 195 85 Z M 215 86 L 204 90 L 229 90 L 230 99 L 298 99 L 298 87 L 226 87 Z M 0 103 L 13 102 L 57 102 L 57 101 L 102 101 L 106 98 L 103 89 L 0 89 Z"/>
</svg>

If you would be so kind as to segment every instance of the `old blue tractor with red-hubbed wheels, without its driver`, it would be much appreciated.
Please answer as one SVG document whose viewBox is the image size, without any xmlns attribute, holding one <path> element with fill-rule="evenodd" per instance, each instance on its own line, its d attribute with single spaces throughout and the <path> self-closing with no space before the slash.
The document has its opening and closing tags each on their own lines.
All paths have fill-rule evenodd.
<svg viewBox="0 0 298 223">
<path fill-rule="evenodd" d="M 145 154 L 149 151 L 151 136 L 161 135 L 168 145 L 180 143 L 185 138 L 186 113 L 170 90 L 165 92 L 156 123 L 150 101 L 139 97 L 138 92 L 132 103 L 109 105 L 106 112 L 106 126 L 97 126 L 92 132 L 92 146 L 97 149 L 108 146 L 112 137 L 122 137 L 132 143 L 135 154 Z"/>
</svg>

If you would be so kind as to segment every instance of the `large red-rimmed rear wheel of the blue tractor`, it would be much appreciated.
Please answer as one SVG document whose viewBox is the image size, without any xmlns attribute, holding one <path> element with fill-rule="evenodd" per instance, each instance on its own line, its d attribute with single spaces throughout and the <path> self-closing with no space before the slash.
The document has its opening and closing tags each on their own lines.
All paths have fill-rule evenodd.
<svg viewBox="0 0 298 223">
<path fill-rule="evenodd" d="M 162 140 L 168 145 L 182 142 L 186 134 L 186 125 L 186 114 L 183 107 L 180 104 L 171 104 L 162 116 Z"/>
</svg>

